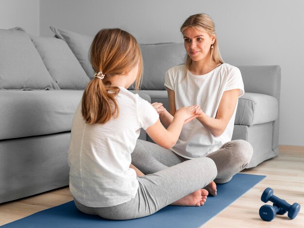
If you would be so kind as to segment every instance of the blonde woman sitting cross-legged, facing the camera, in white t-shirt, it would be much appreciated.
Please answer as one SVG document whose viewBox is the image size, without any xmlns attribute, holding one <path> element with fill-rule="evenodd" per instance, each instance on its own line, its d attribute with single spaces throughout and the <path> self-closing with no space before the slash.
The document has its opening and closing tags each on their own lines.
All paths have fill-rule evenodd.
<svg viewBox="0 0 304 228">
<path fill-rule="evenodd" d="M 248 165 L 253 154 L 247 141 L 231 141 L 244 85 L 239 69 L 223 62 L 214 23 L 208 15 L 189 16 L 181 33 L 187 59 L 186 65 L 172 67 L 166 73 L 169 113 L 161 103 L 153 106 L 167 126 L 179 108 L 199 104 L 201 109 L 196 120 L 183 127 L 171 150 L 138 141 L 132 160 L 144 173 L 153 173 L 189 159 L 209 157 L 217 165 L 218 176 L 206 189 L 216 195 L 216 182 L 228 182 Z"/>
</svg>

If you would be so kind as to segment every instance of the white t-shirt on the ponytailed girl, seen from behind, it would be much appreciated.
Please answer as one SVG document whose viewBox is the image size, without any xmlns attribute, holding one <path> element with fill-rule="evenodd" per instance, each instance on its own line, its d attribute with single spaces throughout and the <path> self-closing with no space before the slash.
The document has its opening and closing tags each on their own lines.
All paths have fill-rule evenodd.
<svg viewBox="0 0 304 228">
<path fill-rule="evenodd" d="M 134 198 L 138 181 L 130 168 L 140 128 L 159 118 L 152 105 L 119 87 L 119 115 L 105 124 L 86 124 L 81 103 L 74 114 L 68 150 L 69 187 L 88 207 L 111 207 Z"/>
</svg>

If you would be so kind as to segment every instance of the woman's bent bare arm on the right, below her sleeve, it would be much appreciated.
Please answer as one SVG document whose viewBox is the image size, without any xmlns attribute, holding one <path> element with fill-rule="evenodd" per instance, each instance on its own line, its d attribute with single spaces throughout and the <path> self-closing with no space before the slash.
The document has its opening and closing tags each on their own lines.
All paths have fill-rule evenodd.
<svg viewBox="0 0 304 228">
<path fill-rule="evenodd" d="M 220 105 L 215 118 L 212 118 L 202 110 L 197 119 L 208 129 L 213 135 L 220 136 L 226 129 L 231 116 L 236 109 L 236 103 L 239 96 L 239 89 L 228 90 L 223 93 Z"/>
</svg>

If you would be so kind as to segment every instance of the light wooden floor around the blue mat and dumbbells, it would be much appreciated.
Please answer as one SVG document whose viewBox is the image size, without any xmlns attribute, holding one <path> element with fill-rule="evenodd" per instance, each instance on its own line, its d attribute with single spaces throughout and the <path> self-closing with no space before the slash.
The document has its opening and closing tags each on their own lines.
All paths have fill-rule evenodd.
<svg viewBox="0 0 304 228">
<path fill-rule="evenodd" d="M 304 228 L 304 147 L 280 146 L 279 150 L 278 157 L 243 171 L 267 177 L 207 222 L 204 228 Z M 287 200 L 288 203 L 297 202 L 302 205 L 299 215 L 293 220 L 285 214 L 276 216 L 271 222 L 262 221 L 258 211 L 264 203 L 260 197 L 267 187 L 271 187 L 275 195 Z M 66 187 L 0 204 L 0 226 L 72 199 Z"/>
</svg>

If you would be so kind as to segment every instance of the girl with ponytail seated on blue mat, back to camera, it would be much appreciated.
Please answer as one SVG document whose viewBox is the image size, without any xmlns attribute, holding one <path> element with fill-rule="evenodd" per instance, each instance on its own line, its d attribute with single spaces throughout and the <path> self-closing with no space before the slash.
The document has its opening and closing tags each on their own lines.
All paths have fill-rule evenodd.
<svg viewBox="0 0 304 228">
<path fill-rule="evenodd" d="M 126 89 L 134 81 L 138 88 L 142 57 L 135 38 L 125 31 L 101 30 L 90 54 L 97 73 L 75 112 L 68 151 L 76 207 L 106 219 L 132 219 L 169 204 L 203 205 L 208 192 L 202 188 L 217 175 L 211 159 L 193 159 L 146 176 L 131 164 L 140 128 L 161 147 L 171 148 L 200 107 L 180 108 L 169 127 L 162 126 L 152 105 Z"/>
</svg>

